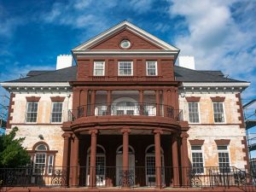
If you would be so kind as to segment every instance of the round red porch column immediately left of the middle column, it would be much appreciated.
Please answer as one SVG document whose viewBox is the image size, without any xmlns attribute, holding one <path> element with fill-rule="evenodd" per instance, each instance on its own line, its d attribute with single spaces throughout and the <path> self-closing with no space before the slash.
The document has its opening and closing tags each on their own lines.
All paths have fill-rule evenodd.
<svg viewBox="0 0 256 192">
<path fill-rule="evenodd" d="M 91 130 L 90 133 L 90 177 L 89 187 L 96 187 L 96 148 L 97 148 L 97 130 Z"/>
</svg>

